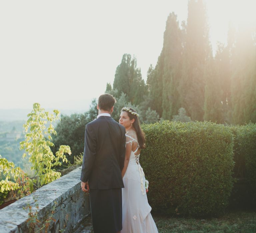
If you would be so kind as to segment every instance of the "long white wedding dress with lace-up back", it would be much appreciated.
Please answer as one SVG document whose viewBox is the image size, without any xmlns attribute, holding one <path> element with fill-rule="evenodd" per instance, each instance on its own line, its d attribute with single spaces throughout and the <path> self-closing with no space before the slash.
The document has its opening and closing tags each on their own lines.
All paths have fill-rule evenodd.
<svg viewBox="0 0 256 233">
<path fill-rule="evenodd" d="M 132 136 L 133 137 L 132 137 Z M 128 140 L 127 140 L 128 139 Z M 129 164 L 123 177 L 122 213 L 123 229 L 121 233 L 156 233 L 157 227 L 150 213 L 145 188 L 145 175 L 139 163 L 139 149 L 136 134 L 126 134 L 127 143 L 137 143 L 135 151 L 131 151 Z"/>
</svg>

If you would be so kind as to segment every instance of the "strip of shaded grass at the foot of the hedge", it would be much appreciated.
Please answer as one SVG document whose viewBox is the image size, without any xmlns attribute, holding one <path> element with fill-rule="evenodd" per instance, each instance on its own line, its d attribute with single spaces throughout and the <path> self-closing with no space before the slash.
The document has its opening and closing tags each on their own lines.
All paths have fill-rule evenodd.
<svg viewBox="0 0 256 233">
<path fill-rule="evenodd" d="M 159 233 L 255 233 L 256 211 L 230 211 L 214 218 L 176 218 L 152 214 Z"/>
</svg>

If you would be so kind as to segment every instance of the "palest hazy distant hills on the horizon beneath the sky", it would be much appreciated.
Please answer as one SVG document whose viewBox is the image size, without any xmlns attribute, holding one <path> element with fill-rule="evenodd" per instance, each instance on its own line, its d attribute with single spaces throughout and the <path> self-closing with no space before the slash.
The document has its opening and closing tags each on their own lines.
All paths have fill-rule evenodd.
<svg viewBox="0 0 256 233">
<path fill-rule="evenodd" d="M 59 109 L 58 109 L 59 110 Z M 27 115 L 31 113 L 32 109 L 0 109 L 0 121 L 26 121 Z M 45 111 L 52 112 L 53 109 L 45 109 Z M 59 110 L 63 115 L 71 115 L 73 113 L 84 113 L 84 111 L 76 110 Z"/>
</svg>

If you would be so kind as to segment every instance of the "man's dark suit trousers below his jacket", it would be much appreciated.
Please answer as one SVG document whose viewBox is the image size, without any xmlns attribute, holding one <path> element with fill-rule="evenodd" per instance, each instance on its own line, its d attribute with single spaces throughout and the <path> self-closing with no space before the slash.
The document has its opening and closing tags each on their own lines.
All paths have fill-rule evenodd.
<svg viewBox="0 0 256 233">
<path fill-rule="evenodd" d="M 94 233 L 122 230 L 122 188 L 90 189 Z"/>
</svg>

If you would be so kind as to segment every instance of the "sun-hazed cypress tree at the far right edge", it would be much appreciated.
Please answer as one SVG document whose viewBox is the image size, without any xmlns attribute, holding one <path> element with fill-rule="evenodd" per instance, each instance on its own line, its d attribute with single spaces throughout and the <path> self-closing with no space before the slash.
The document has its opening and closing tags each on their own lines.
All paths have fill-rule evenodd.
<svg viewBox="0 0 256 233">
<path fill-rule="evenodd" d="M 256 47 L 252 31 L 241 27 L 232 50 L 232 123 L 256 122 Z"/>
</svg>

